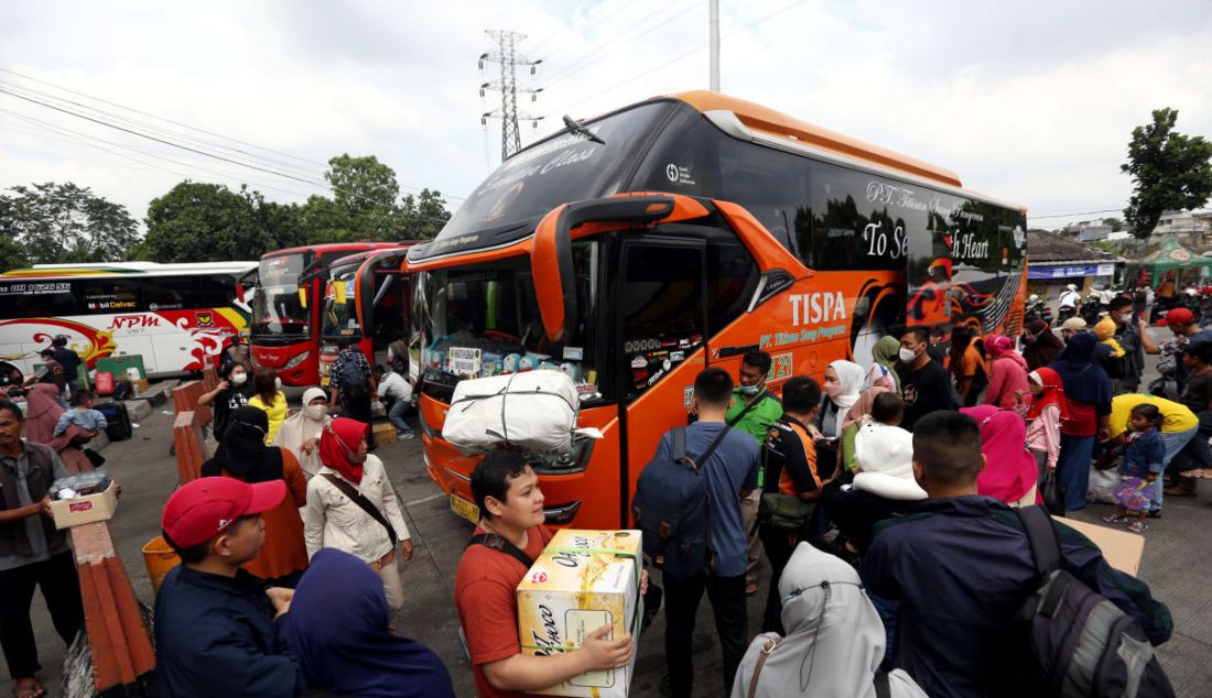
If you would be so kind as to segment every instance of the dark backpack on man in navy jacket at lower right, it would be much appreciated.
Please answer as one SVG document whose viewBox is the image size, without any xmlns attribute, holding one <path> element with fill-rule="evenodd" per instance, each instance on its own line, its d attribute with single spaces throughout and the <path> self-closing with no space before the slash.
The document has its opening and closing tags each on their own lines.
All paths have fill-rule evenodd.
<svg viewBox="0 0 1212 698">
<path fill-rule="evenodd" d="M 1040 576 L 1004 637 L 1002 694 L 1173 697 L 1136 619 L 1060 568 L 1060 544 L 1047 511 L 1041 507 L 1016 511 Z"/>
</svg>

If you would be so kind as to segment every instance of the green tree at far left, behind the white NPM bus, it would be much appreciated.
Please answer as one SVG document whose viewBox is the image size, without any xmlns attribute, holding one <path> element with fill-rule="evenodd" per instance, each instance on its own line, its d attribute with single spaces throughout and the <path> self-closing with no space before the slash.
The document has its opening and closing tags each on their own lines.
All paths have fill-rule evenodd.
<svg viewBox="0 0 1212 698">
<path fill-rule="evenodd" d="M 68 182 L 13 187 L 0 194 L 4 252 L 15 245 L 36 264 L 116 262 L 138 239 L 138 224 L 125 206 Z M 7 264 L 7 262 L 6 262 Z"/>
</svg>

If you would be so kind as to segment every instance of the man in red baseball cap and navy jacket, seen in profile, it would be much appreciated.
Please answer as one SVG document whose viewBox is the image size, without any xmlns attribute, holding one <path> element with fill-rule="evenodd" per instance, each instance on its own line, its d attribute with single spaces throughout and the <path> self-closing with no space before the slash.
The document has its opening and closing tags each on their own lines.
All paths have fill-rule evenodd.
<svg viewBox="0 0 1212 698">
<path fill-rule="evenodd" d="M 286 497 L 281 480 L 201 477 L 164 507 L 164 538 L 181 555 L 155 602 L 161 696 L 295 698 L 307 683 L 278 622 L 293 591 L 241 570 L 265 544 L 261 514 Z"/>
</svg>

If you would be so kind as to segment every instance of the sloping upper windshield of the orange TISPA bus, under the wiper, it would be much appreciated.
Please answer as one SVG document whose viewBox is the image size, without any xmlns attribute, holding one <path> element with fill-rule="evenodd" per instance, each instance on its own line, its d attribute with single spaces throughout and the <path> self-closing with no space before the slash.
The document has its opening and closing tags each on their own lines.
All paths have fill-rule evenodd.
<svg viewBox="0 0 1212 698">
<path fill-rule="evenodd" d="M 654 102 L 587 122 L 585 128 L 605 144 L 564 132 L 518 153 L 468 196 L 429 250 L 542 216 L 560 204 L 616 194 L 653 125 L 674 108 Z"/>
</svg>

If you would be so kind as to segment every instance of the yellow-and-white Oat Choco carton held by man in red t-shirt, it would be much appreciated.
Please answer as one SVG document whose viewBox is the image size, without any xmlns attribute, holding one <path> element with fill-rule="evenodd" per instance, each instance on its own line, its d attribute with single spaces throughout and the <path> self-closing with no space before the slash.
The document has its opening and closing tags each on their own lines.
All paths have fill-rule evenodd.
<svg viewBox="0 0 1212 698">
<path fill-rule="evenodd" d="M 624 698 L 635 668 L 639 619 L 639 531 L 562 530 L 518 585 L 518 631 L 522 652 L 551 656 L 576 650 L 585 636 L 611 625 L 607 637 L 630 633 L 631 663 L 589 671 L 545 691 L 545 696 Z"/>
</svg>

